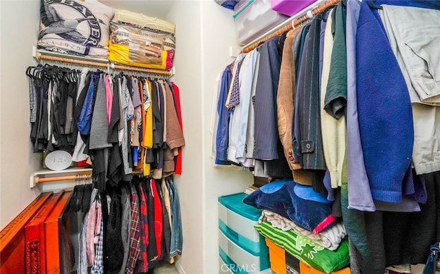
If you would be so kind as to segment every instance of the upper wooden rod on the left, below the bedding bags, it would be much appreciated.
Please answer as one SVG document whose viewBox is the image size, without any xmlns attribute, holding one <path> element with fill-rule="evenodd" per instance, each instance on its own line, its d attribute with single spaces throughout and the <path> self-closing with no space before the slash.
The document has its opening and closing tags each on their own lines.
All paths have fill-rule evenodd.
<svg viewBox="0 0 440 274">
<path fill-rule="evenodd" d="M 76 60 L 72 58 L 64 58 L 64 57 L 58 57 L 58 56 L 50 56 L 41 54 L 41 52 L 36 52 L 36 58 L 39 60 L 52 60 L 52 61 L 58 61 L 58 62 L 69 62 L 79 65 L 87 65 L 87 66 L 93 66 L 93 67 L 104 67 L 107 68 L 110 64 L 108 62 L 91 62 L 91 61 L 85 61 L 85 60 Z M 144 73 L 153 73 L 153 74 L 159 74 L 159 75 L 166 75 L 171 76 L 173 73 L 172 71 L 162 71 L 159 69 L 146 69 L 143 67 L 131 67 L 131 66 L 124 66 L 124 65 L 115 65 L 111 64 L 111 69 L 121 69 L 126 71 L 138 71 L 138 72 L 144 72 Z"/>
</svg>

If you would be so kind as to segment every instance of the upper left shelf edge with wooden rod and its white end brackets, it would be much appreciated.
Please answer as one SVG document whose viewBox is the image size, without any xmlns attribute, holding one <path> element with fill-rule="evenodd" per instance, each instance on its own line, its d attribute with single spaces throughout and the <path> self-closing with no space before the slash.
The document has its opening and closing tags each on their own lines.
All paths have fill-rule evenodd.
<svg viewBox="0 0 440 274">
<path fill-rule="evenodd" d="M 89 58 L 84 56 L 75 56 L 69 54 L 61 54 L 59 52 L 49 52 L 47 50 L 37 49 L 35 46 L 32 47 L 32 56 L 40 62 L 41 60 L 52 60 L 58 62 L 68 62 L 78 65 L 89 65 L 93 67 L 102 67 L 107 69 L 120 69 L 126 71 L 137 71 L 144 73 L 153 73 L 164 76 L 173 76 L 175 74 L 175 67 L 172 67 L 170 71 L 165 71 L 161 69 L 146 69 L 143 67 L 133 67 L 126 65 L 118 65 L 114 62 L 110 62 L 107 59 Z"/>
</svg>

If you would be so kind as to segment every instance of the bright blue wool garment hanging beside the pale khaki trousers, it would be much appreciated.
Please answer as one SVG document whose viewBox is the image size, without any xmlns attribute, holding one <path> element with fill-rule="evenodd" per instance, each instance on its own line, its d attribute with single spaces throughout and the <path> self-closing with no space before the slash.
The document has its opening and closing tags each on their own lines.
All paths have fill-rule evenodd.
<svg viewBox="0 0 440 274">
<path fill-rule="evenodd" d="M 358 115 L 373 199 L 398 203 L 412 157 L 410 96 L 384 27 L 362 1 L 356 36 Z"/>
</svg>

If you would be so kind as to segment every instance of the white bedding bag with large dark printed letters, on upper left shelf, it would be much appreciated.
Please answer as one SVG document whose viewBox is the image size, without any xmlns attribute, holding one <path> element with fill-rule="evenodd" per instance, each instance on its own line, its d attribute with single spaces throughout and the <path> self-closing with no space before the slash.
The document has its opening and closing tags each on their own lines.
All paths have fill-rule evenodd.
<svg viewBox="0 0 440 274">
<path fill-rule="evenodd" d="M 98 1 L 41 0 L 37 47 L 106 59 L 114 11 Z"/>
</svg>

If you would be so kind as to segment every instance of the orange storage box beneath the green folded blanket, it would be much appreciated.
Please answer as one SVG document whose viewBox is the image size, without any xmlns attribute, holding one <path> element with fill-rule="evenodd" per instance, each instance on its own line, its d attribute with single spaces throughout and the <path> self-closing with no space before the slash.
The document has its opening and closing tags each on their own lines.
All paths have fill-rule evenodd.
<svg viewBox="0 0 440 274">
<path fill-rule="evenodd" d="M 267 247 L 269 248 L 270 268 L 275 274 L 325 274 L 318 271 L 304 262 L 301 262 L 294 256 L 286 253 L 286 251 L 278 247 L 274 242 L 265 238 Z M 350 267 L 345 267 L 331 274 L 350 274 Z"/>
</svg>

